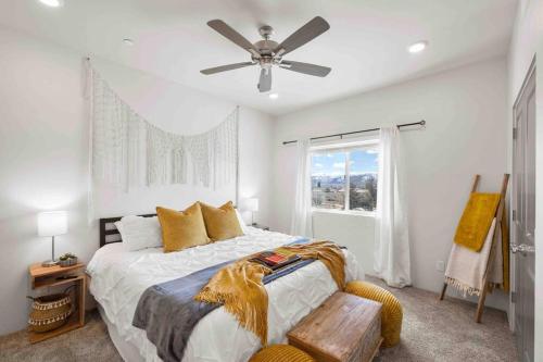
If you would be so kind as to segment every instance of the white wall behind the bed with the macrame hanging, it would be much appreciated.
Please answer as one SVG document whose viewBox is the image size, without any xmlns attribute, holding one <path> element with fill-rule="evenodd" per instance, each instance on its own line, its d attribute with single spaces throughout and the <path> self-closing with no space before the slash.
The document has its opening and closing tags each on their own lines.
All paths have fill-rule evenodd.
<svg viewBox="0 0 543 362">
<path fill-rule="evenodd" d="M 50 240 L 36 236 L 36 213 L 67 210 L 70 233 L 58 253 L 88 261 L 98 247 L 96 221 L 87 223 L 88 122 L 81 98 L 83 55 L 0 28 L 0 335 L 25 327 L 28 265 L 50 258 Z M 236 107 L 189 87 L 105 61 L 96 66 L 135 109 L 168 130 L 193 134 L 220 122 Z M 269 217 L 273 120 L 250 109 L 240 114 L 240 194 L 261 199 L 257 219 Z M 211 192 L 210 192 L 211 195 Z M 123 195 L 99 185 L 97 215 L 182 208 L 207 194 L 169 186 Z M 214 195 L 211 200 L 233 198 Z"/>
</svg>

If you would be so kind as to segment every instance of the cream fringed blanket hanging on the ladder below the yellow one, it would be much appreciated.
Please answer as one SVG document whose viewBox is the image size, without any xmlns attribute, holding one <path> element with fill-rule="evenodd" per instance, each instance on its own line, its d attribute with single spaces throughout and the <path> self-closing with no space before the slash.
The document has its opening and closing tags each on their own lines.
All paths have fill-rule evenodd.
<svg viewBox="0 0 543 362">
<path fill-rule="evenodd" d="M 464 296 L 479 296 L 482 289 L 482 278 L 489 262 L 492 238 L 496 228 L 496 219 L 492 221 L 489 234 L 480 252 L 472 251 L 453 242 L 445 271 L 445 283 L 460 290 Z M 494 249 L 494 261 L 489 275 L 489 282 L 503 283 L 502 233 L 497 233 L 497 244 Z"/>
</svg>

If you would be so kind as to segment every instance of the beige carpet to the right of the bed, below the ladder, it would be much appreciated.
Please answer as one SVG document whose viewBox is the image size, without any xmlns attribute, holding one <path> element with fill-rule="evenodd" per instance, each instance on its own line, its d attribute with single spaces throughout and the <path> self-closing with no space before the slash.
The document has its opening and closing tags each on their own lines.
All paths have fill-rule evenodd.
<svg viewBox="0 0 543 362">
<path fill-rule="evenodd" d="M 384 287 L 377 279 L 372 283 Z M 394 289 L 404 310 L 400 345 L 381 350 L 379 362 L 514 362 L 517 350 L 507 315 L 487 308 L 475 322 L 476 304 L 417 288 Z"/>
</svg>

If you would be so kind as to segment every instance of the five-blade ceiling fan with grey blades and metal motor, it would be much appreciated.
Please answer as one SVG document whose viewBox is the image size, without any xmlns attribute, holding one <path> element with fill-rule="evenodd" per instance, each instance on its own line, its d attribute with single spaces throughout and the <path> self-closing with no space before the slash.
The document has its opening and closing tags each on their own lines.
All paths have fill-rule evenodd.
<svg viewBox="0 0 543 362">
<path fill-rule="evenodd" d="M 207 22 L 207 25 L 225 38 L 250 52 L 251 61 L 210 67 L 200 71 L 202 74 L 210 75 L 258 64 L 261 66 L 261 78 L 258 80 L 257 88 L 261 92 L 265 92 L 272 89 L 272 67 L 274 65 L 292 72 L 314 75 L 317 77 L 326 77 L 331 71 L 331 68 L 327 66 L 282 59 L 283 55 L 302 47 L 330 28 L 330 25 L 320 16 L 316 16 L 311 20 L 281 43 L 269 39 L 274 34 L 274 28 L 268 25 L 262 26 L 258 29 L 258 33 L 264 40 L 256 41 L 255 43 L 251 43 L 241 34 L 236 32 L 222 20 L 212 20 Z"/>
</svg>

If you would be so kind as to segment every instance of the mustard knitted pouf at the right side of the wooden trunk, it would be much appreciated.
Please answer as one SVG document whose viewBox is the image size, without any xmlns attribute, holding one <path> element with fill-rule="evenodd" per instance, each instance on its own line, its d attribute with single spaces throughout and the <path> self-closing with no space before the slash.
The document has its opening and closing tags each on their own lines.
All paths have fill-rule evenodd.
<svg viewBox="0 0 543 362">
<path fill-rule="evenodd" d="M 353 280 L 348 283 L 345 292 L 375 300 L 382 304 L 381 334 L 382 347 L 392 347 L 400 342 L 402 333 L 402 304 L 390 291 L 368 282 Z"/>
</svg>

